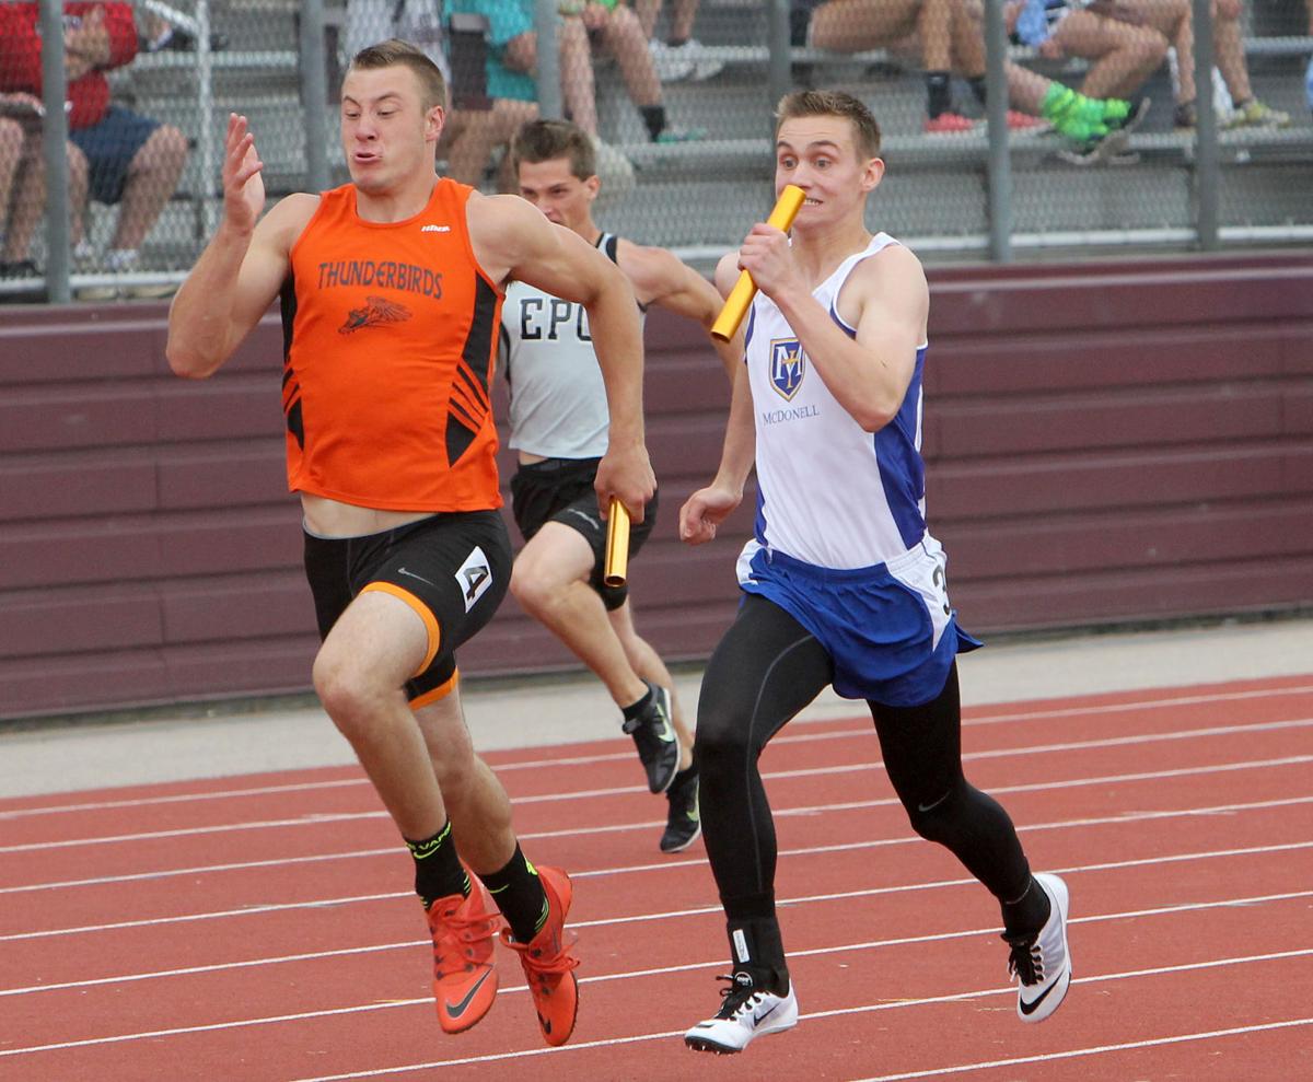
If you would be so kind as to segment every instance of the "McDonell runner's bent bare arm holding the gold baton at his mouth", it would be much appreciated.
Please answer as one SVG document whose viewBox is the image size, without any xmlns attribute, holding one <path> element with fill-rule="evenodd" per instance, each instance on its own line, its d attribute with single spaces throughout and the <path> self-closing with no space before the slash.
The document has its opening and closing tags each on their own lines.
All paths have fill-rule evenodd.
<svg viewBox="0 0 1313 1082">
<path fill-rule="evenodd" d="M 817 373 L 868 432 L 898 414 L 924 341 L 930 289 L 920 261 L 901 244 L 864 259 L 839 294 L 839 314 L 855 339 L 811 295 L 788 238 L 764 223 L 739 248 L 738 265 L 779 306 Z"/>
</svg>

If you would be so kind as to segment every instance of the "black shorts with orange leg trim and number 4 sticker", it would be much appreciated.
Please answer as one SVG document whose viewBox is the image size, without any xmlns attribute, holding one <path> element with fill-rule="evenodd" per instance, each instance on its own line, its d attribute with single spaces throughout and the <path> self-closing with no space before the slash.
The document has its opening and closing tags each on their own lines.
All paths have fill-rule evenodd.
<svg viewBox="0 0 1313 1082">
<path fill-rule="evenodd" d="M 419 708 L 446 695 L 456 680 L 456 647 L 492 618 L 511 583 L 502 515 L 444 512 L 365 537 L 305 537 L 319 637 L 328 637 L 358 594 L 390 594 L 428 629 L 428 655 L 406 683 L 406 697 Z"/>
</svg>

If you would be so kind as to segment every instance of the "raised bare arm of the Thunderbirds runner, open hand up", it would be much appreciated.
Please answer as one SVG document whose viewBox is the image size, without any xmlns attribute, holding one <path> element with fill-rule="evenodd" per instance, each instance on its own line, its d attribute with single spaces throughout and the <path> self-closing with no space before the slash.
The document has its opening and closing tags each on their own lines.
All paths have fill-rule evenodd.
<svg viewBox="0 0 1313 1082">
<path fill-rule="evenodd" d="M 246 117 L 230 116 L 223 222 L 169 309 L 164 352 L 179 376 L 213 374 L 260 322 L 288 276 L 293 243 L 319 205 L 318 196 L 289 196 L 260 221 L 263 168 Z"/>
</svg>

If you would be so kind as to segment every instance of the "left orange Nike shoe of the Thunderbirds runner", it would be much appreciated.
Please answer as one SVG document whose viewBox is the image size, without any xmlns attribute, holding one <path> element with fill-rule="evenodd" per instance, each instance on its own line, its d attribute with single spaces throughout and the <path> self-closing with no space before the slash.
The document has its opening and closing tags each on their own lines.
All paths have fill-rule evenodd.
<svg viewBox="0 0 1313 1082">
<path fill-rule="evenodd" d="M 437 1022 L 448 1033 L 463 1033 L 496 999 L 492 938 L 500 915 L 477 876 L 470 897 L 450 894 L 428 907 L 433 934 L 433 998 Z"/>
</svg>

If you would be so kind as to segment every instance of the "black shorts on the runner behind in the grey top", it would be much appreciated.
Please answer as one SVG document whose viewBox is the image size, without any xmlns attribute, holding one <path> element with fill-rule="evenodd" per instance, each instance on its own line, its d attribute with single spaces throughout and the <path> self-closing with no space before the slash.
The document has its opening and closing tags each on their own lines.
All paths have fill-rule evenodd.
<svg viewBox="0 0 1313 1082">
<path fill-rule="evenodd" d="M 515 524 L 525 541 L 545 523 L 563 523 L 583 534 L 592 549 L 592 574 L 588 586 L 601 595 L 608 612 L 614 612 L 629 597 L 628 586 L 607 586 L 607 523 L 597 513 L 597 494 L 592 482 L 600 458 L 545 458 L 521 465 L 511 478 L 511 509 Z M 643 513 L 642 523 L 629 530 L 629 557 L 643 546 L 656 525 L 656 494 Z"/>
</svg>

